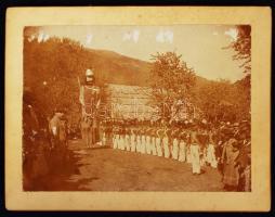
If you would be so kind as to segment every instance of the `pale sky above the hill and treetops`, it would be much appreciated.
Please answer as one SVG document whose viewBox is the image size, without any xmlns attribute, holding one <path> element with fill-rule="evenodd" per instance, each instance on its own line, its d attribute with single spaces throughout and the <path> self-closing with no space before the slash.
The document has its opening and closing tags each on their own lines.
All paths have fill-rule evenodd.
<svg viewBox="0 0 275 217">
<path fill-rule="evenodd" d="M 38 29 L 38 35 L 30 36 L 29 40 L 66 37 L 87 48 L 110 50 L 148 62 L 152 54 L 175 51 L 201 77 L 232 82 L 244 77 L 240 63 L 232 60 L 234 52 L 222 49 L 236 40 L 237 29 L 232 25 L 43 26 Z"/>
</svg>

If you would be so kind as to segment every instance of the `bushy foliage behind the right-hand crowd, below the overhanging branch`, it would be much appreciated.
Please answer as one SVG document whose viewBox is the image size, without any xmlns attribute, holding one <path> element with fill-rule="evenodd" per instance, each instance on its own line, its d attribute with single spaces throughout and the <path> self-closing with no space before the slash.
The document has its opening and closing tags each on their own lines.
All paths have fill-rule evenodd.
<svg viewBox="0 0 275 217">
<path fill-rule="evenodd" d="M 196 87 L 196 106 L 210 122 L 238 122 L 250 118 L 250 75 L 231 84 L 227 80 Z"/>
</svg>

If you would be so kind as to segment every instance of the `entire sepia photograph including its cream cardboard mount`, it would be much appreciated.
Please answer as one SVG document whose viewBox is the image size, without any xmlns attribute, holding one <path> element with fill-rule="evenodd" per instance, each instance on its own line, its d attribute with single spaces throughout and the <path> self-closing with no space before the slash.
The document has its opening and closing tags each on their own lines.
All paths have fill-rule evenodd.
<svg viewBox="0 0 275 217">
<path fill-rule="evenodd" d="M 269 209 L 269 9 L 58 10 L 8 16 L 11 209 Z"/>
</svg>

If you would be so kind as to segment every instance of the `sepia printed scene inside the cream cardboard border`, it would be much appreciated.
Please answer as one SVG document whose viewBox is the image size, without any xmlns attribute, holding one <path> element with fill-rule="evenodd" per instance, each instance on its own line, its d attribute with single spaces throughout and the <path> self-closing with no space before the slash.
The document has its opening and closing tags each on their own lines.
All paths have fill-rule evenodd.
<svg viewBox="0 0 275 217">
<path fill-rule="evenodd" d="M 22 192 L 251 194 L 253 30 L 22 25 Z"/>
</svg>

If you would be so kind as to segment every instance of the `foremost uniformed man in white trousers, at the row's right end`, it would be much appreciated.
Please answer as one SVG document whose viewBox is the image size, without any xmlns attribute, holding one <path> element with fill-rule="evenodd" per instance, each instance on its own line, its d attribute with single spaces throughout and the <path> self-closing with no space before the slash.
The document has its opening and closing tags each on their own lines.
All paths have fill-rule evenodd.
<svg viewBox="0 0 275 217">
<path fill-rule="evenodd" d="M 199 145 L 195 135 L 193 135 L 189 149 L 191 149 L 192 173 L 193 175 L 199 175 L 200 174 Z"/>
</svg>

